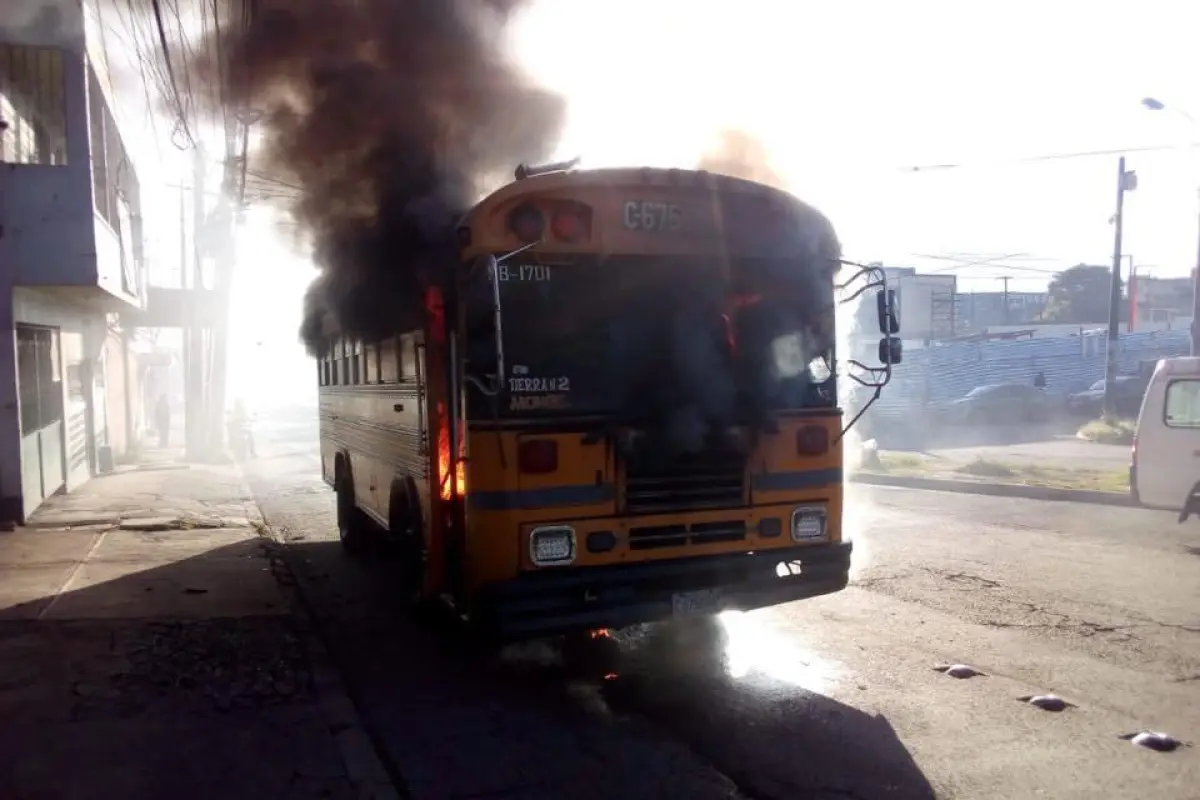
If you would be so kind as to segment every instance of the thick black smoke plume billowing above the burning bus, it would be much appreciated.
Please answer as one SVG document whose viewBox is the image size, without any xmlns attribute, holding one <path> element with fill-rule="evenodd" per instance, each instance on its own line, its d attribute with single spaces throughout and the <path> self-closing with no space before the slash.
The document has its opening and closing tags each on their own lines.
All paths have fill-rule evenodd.
<svg viewBox="0 0 1200 800">
<path fill-rule="evenodd" d="M 226 31 L 227 102 L 260 114 L 252 164 L 298 187 L 320 275 L 301 338 L 419 325 L 457 260 L 454 223 L 482 184 L 539 160 L 560 97 L 506 58 L 518 0 L 260 0 Z"/>
</svg>

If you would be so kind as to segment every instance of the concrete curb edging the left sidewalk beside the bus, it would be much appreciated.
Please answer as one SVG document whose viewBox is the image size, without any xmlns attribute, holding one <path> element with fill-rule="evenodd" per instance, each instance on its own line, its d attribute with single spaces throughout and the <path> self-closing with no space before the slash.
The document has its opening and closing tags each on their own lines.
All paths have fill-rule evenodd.
<svg viewBox="0 0 1200 800">
<path fill-rule="evenodd" d="M 242 505 L 246 509 L 246 518 L 266 541 L 266 555 L 276 582 L 281 589 L 292 595 L 295 631 L 308 654 L 313 690 L 320 703 L 325 724 L 337 745 L 346 776 L 354 783 L 355 796 L 359 800 L 400 800 L 402 795 L 396 789 L 396 782 L 379 759 L 374 744 L 362 724 L 362 717 L 355 709 L 341 674 L 334 668 L 329 648 L 317 633 L 316 616 L 288 563 L 287 543 L 280 540 L 268 524 L 262 509 L 253 499 L 254 494 L 241 467 L 236 469 L 244 492 Z"/>
</svg>

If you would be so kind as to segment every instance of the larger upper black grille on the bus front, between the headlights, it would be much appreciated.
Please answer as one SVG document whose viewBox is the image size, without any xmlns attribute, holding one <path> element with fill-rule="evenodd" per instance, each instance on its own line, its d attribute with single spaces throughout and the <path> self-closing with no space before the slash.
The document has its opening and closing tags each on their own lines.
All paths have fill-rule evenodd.
<svg viewBox="0 0 1200 800">
<path fill-rule="evenodd" d="M 730 509 L 745 498 L 745 456 L 704 452 L 668 463 L 625 467 L 625 510 L 630 513 Z"/>
</svg>

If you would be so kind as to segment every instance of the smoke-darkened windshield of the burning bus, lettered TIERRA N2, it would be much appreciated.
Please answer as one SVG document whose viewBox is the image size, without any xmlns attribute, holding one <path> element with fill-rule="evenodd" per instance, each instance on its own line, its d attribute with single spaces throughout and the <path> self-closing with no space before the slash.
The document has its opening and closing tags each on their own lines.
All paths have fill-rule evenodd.
<svg viewBox="0 0 1200 800">
<path fill-rule="evenodd" d="M 750 348 L 742 354 L 750 336 L 744 319 L 752 312 L 731 306 L 718 263 L 596 261 L 514 259 L 499 266 L 503 415 L 620 417 L 654 397 L 686 391 L 680 371 L 694 377 L 692 391 L 754 385 L 774 408 L 834 404 L 828 343 L 810 351 L 799 336 L 782 335 L 754 348 L 764 350 L 757 360 Z"/>
</svg>

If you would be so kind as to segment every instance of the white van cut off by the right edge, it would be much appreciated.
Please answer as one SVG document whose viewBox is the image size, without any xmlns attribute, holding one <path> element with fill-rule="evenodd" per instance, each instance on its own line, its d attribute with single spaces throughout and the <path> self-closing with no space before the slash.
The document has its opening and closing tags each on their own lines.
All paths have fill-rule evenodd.
<svg viewBox="0 0 1200 800">
<path fill-rule="evenodd" d="M 1129 488 L 1142 505 L 1200 515 L 1200 357 L 1163 359 L 1146 387 Z"/>
</svg>

